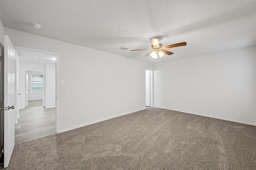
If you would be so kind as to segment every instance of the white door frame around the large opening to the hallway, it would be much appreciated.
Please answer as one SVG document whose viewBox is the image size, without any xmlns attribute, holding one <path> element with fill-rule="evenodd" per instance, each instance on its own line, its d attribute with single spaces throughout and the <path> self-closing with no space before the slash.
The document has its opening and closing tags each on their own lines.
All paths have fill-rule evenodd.
<svg viewBox="0 0 256 170">
<path fill-rule="evenodd" d="M 56 133 L 59 133 L 59 91 L 58 89 L 60 88 L 60 85 L 58 84 L 58 82 L 60 82 L 59 80 L 59 53 L 54 53 L 54 52 L 50 52 L 50 51 L 43 51 L 40 49 L 32 49 L 32 48 L 27 48 L 27 47 L 20 47 L 20 46 L 16 46 L 14 45 L 15 49 L 19 49 L 19 50 L 25 50 L 25 51 L 31 51 L 31 52 L 35 52 L 35 53 L 44 53 L 44 54 L 50 54 L 50 55 L 55 55 L 56 56 L 56 61 L 55 61 L 55 96 L 56 96 L 56 100 L 55 100 L 55 121 L 56 121 Z"/>
</svg>

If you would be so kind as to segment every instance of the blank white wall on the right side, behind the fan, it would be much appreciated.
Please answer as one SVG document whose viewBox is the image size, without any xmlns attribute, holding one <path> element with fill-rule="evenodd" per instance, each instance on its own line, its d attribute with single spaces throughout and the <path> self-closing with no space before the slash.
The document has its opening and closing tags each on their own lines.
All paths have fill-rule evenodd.
<svg viewBox="0 0 256 170">
<path fill-rule="evenodd" d="M 256 47 L 157 63 L 154 106 L 256 125 Z"/>
</svg>

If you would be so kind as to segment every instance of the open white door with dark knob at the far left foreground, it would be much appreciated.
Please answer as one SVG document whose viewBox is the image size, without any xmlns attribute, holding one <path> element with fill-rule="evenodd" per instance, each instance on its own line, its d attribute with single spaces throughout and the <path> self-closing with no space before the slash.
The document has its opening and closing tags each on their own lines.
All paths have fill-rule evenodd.
<svg viewBox="0 0 256 170">
<path fill-rule="evenodd" d="M 15 49 L 9 37 L 4 36 L 4 168 L 9 165 L 15 144 L 15 69 Z"/>
</svg>

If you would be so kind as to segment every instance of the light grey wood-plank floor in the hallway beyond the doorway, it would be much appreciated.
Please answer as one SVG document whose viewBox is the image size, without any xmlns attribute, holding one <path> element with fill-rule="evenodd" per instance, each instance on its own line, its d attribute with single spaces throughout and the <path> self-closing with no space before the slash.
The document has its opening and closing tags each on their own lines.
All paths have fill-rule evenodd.
<svg viewBox="0 0 256 170">
<path fill-rule="evenodd" d="M 15 144 L 21 144 L 56 133 L 55 107 L 43 106 L 20 109 L 15 125 Z"/>
</svg>

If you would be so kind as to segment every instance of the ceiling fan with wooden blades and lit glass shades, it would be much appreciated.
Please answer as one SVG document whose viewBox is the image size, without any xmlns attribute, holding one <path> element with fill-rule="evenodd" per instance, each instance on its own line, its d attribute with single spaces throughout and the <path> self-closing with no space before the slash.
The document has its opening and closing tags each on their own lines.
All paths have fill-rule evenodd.
<svg viewBox="0 0 256 170">
<path fill-rule="evenodd" d="M 162 46 L 162 43 L 158 42 L 159 37 L 151 38 L 150 40 L 152 42 L 152 45 L 151 45 L 152 49 L 132 49 L 131 51 L 154 50 L 144 55 L 144 57 L 147 57 L 148 55 L 150 55 L 151 57 L 157 59 L 158 57 L 162 57 L 164 54 L 167 54 L 167 55 L 173 54 L 172 52 L 167 51 L 165 49 L 187 45 L 186 42 L 181 42 L 181 43 L 174 43 L 171 45 Z"/>
</svg>

